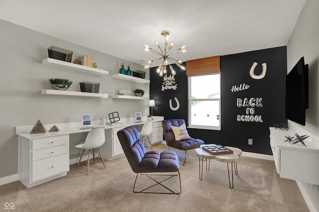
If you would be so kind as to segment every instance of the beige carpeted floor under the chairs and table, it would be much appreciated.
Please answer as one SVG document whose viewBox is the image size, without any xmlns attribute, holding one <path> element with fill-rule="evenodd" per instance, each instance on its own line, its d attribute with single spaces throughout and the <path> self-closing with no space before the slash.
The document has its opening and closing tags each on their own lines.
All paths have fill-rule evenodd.
<svg viewBox="0 0 319 212">
<path fill-rule="evenodd" d="M 155 150 L 167 150 L 159 144 Z M 149 149 L 148 149 L 149 150 Z M 183 157 L 183 152 L 176 150 Z M 192 150 L 191 155 L 196 155 Z M 180 166 L 181 193 L 135 194 L 136 174 L 126 157 L 101 160 L 90 166 L 86 175 L 86 162 L 79 169 L 70 166 L 67 176 L 27 189 L 19 181 L 0 186 L 0 209 L 13 203 L 21 212 L 308 212 L 307 205 L 295 181 L 282 179 L 276 172 L 274 161 L 241 156 L 238 176 L 234 175 L 234 189 L 229 189 L 227 164 L 210 161 L 210 170 L 203 171 L 199 180 L 198 159 L 188 156 L 186 166 Z M 149 184 L 146 176 L 139 178 Z M 173 189 L 178 178 L 166 185 Z M 153 189 L 161 190 L 160 186 Z"/>
</svg>

